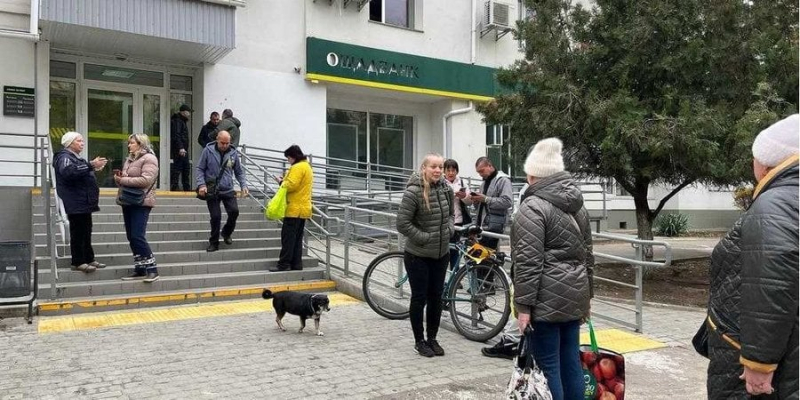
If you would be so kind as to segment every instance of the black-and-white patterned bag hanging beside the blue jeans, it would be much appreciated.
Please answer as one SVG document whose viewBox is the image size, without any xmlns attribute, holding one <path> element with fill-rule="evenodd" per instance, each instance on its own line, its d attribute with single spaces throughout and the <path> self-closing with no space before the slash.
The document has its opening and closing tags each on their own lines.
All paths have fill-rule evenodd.
<svg viewBox="0 0 800 400">
<path fill-rule="evenodd" d="M 530 342 L 532 333 L 533 331 L 528 326 L 520 339 L 519 353 L 514 356 L 514 370 L 511 372 L 511 379 L 506 388 L 507 399 L 553 400 L 553 395 L 547 386 L 547 378 L 533 359 L 531 351 L 533 346 Z"/>
</svg>

